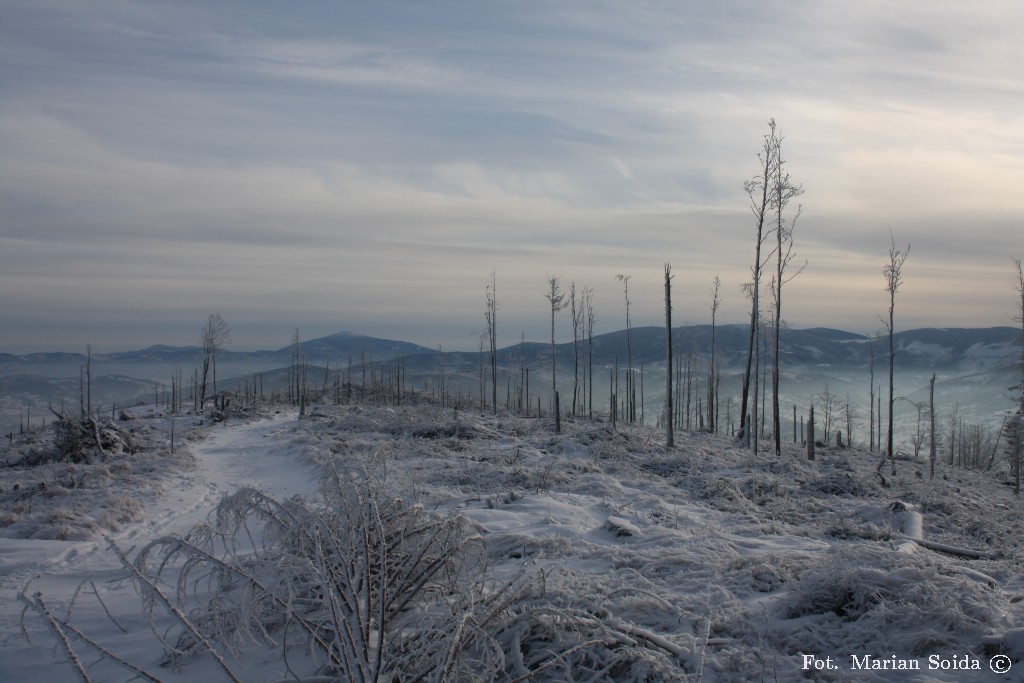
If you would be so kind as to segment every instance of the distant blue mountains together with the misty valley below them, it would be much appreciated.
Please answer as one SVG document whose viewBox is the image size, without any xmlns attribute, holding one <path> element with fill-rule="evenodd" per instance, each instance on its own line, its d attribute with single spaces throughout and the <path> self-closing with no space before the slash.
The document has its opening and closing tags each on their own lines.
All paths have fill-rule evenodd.
<svg viewBox="0 0 1024 683">
<path fill-rule="evenodd" d="M 711 326 L 699 325 L 676 328 L 673 341 L 684 357 L 702 356 L 699 364 L 706 367 L 711 349 Z M 718 357 L 730 386 L 738 384 L 746 359 L 749 328 L 744 325 L 719 326 L 715 330 Z M 933 371 L 943 378 L 942 399 L 956 404 L 967 414 L 992 416 L 1007 405 L 1007 387 L 1019 378 L 1020 330 L 1015 328 L 985 329 L 923 329 L 899 332 L 895 335 L 897 349 L 897 380 L 909 381 L 904 395 L 923 400 L 921 382 Z M 607 382 L 607 368 L 618 365 L 625 370 L 628 346 L 632 347 L 634 368 L 653 370 L 665 361 L 665 330 L 658 327 L 635 328 L 629 343 L 625 330 L 598 335 L 593 340 L 595 380 L 600 385 Z M 871 339 L 841 330 L 816 328 L 810 330 L 782 330 L 782 370 L 785 385 L 794 395 L 813 395 L 827 386 L 829 381 L 839 390 L 849 388 L 844 384 L 851 376 L 866 375 L 871 353 L 874 353 L 877 377 L 885 373 L 888 338 Z M 441 351 L 410 342 L 377 339 L 364 335 L 341 332 L 310 339 L 299 344 L 306 364 L 321 367 L 314 381 L 327 385 L 331 373 L 346 373 L 351 361 L 355 373 L 366 365 L 393 365 L 401 359 L 402 374 L 411 386 L 433 386 L 438 372 L 443 368 L 450 381 L 465 387 L 475 387 L 481 361 L 477 350 Z M 558 371 L 562 378 L 572 373 L 572 344 L 555 346 Z M 218 386 L 236 390 L 246 386 L 249 378 L 259 376 L 259 385 L 268 390 L 287 386 L 289 367 L 294 349 L 291 345 L 275 350 L 231 351 L 217 355 Z M 581 361 L 585 362 L 588 344 L 579 347 Z M 551 345 L 525 342 L 499 349 L 499 362 L 504 369 L 514 369 L 522 362 L 534 377 L 550 377 Z M 200 360 L 197 346 L 154 345 L 137 351 L 94 353 L 92 355 L 93 405 L 126 405 L 144 401 L 152 403 L 169 390 L 171 377 L 181 373 L 189 382 Z M 81 396 L 80 377 L 85 365 L 82 353 L 28 353 L 25 355 L 0 354 L 0 434 L 18 429 L 23 421 L 40 424 L 50 416 L 47 405 L 56 410 L 61 404 L 77 404 Z M 329 367 L 328 371 L 325 366 Z M 702 372 L 702 371 L 701 371 Z M 536 373 L 536 374 L 535 374 Z M 916 375 L 918 380 L 910 380 Z M 358 375 L 356 375 L 358 377 Z M 846 378 L 846 379 L 844 379 Z M 546 380 L 536 380 L 546 385 Z M 658 379 L 648 375 L 648 381 Z M 860 381 L 863 384 L 862 380 Z M 881 379 L 880 379 L 881 381 Z M 358 379 L 356 379 L 358 382 Z M 653 384 L 651 385 L 653 386 Z M 734 390 L 729 389 L 728 391 Z M 843 389 L 844 391 L 847 389 Z M 919 393 L 912 393 L 918 391 Z M 910 392 L 910 393 L 906 393 Z M 652 409 L 653 410 L 653 409 Z"/>
</svg>

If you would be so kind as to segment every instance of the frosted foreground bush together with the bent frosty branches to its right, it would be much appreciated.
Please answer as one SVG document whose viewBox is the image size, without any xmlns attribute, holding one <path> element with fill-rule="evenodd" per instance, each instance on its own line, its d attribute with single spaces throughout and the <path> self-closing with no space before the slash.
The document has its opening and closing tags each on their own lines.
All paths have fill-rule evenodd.
<svg viewBox="0 0 1024 683">
<path fill-rule="evenodd" d="M 373 475 L 327 471 L 316 502 L 244 488 L 209 524 L 139 551 L 150 607 L 181 626 L 160 636 L 168 660 L 206 650 L 230 674 L 222 654 L 257 643 L 291 672 L 301 645 L 294 666 L 317 681 L 682 678 L 682 648 L 589 603 L 553 604 L 540 569 L 488 577 L 463 517 L 387 498 Z"/>
</svg>

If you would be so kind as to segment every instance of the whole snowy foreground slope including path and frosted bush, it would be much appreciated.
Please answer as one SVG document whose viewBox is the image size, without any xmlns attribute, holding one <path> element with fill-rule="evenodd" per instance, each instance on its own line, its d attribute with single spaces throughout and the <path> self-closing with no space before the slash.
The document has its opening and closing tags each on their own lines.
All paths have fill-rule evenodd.
<svg viewBox="0 0 1024 683">
<path fill-rule="evenodd" d="M 940 467 L 929 480 L 925 463 L 898 460 L 883 480 L 877 454 L 819 449 L 807 462 L 787 446 L 754 459 L 714 435 L 677 434 L 668 450 L 647 428 L 552 428 L 428 405 L 325 405 L 196 430 L 195 466 L 181 459 L 138 481 L 147 487 L 139 509 L 125 504 L 133 514 L 95 521 L 99 494 L 83 486 L 50 504 L 77 515 L 70 538 L 86 540 L 0 539 L 0 680 L 81 680 L 45 610 L 147 672 L 61 627 L 95 681 L 351 680 L 378 669 L 382 680 L 1022 680 L 1024 523 L 995 475 Z M 4 512 L 0 533 L 34 535 Z M 37 519 L 36 530 L 52 523 Z M 183 617 L 144 610 L 100 537 L 134 560 L 207 520 L 226 536 L 167 540 L 136 562 L 165 595 L 183 589 Z M 381 575 L 404 597 L 378 613 Z M 350 598 L 353 615 L 339 617 Z"/>
</svg>

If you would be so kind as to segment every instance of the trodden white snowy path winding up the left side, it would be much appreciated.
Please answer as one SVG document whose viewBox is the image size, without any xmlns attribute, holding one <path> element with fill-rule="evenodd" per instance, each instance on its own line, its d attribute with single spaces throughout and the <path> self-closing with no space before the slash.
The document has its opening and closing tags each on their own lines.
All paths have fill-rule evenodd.
<svg viewBox="0 0 1024 683">
<path fill-rule="evenodd" d="M 284 498 L 313 492 L 316 468 L 303 461 L 301 451 L 287 445 L 287 432 L 295 424 L 295 418 L 294 412 L 287 412 L 258 422 L 214 427 L 204 441 L 193 445 L 196 470 L 166 484 L 163 495 L 146 507 L 141 521 L 112 535 L 118 546 L 131 557 L 152 539 L 183 533 L 203 521 L 223 495 L 241 486 L 254 486 Z M 102 540 L 0 539 L 0 680 L 66 680 L 74 676 L 38 618 L 33 615 L 28 620 L 32 644 L 22 633 L 23 603 L 16 596 L 30 580 L 29 593 L 41 591 L 50 608 L 61 614 L 76 589 L 91 580 L 119 621 L 127 615 L 126 621 L 134 620 L 147 630 L 148 626 L 138 617 L 139 602 L 134 588 L 130 582 L 120 581 L 124 573 Z M 84 598 L 80 600 L 90 608 L 76 607 L 75 621 L 87 632 L 90 627 L 110 630 L 105 617 L 92 613 L 96 610 L 91 609 L 95 605 L 91 592 L 86 585 Z M 152 638 L 148 645 L 154 645 Z M 134 658 L 144 661 L 152 657 L 151 652 L 148 656 L 141 654 Z"/>
</svg>

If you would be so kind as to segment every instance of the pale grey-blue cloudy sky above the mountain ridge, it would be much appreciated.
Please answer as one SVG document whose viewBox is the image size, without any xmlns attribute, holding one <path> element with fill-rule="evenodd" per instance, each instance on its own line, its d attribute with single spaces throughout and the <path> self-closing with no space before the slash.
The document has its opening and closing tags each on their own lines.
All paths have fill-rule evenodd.
<svg viewBox="0 0 1024 683">
<path fill-rule="evenodd" d="M 5 0 L 0 347 L 239 349 L 341 330 L 476 348 L 743 323 L 767 121 L 803 183 L 796 327 L 1010 325 L 1024 4 Z M 563 314 L 563 330 L 567 330 Z M 559 332 L 561 337 L 568 335 Z"/>
</svg>

